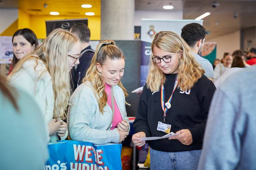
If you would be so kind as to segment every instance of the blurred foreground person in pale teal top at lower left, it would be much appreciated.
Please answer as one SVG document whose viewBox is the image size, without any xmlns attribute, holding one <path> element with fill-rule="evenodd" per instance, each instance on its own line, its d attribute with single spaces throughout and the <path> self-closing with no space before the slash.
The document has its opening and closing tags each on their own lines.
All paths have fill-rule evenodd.
<svg viewBox="0 0 256 170">
<path fill-rule="evenodd" d="M 0 169 L 41 170 L 48 159 L 46 127 L 32 96 L 0 76 Z"/>
</svg>

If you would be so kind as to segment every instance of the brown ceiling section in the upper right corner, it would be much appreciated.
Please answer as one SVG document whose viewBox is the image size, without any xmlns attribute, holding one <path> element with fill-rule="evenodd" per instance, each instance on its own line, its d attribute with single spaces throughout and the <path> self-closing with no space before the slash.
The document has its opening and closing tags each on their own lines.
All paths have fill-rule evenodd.
<svg viewBox="0 0 256 170">
<path fill-rule="evenodd" d="M 219 6 L 213 8 L 211 0 L 185 0 L 183 18 L 195 19 L 210 12 L 211 15 L 203 19 L 204 27 L 211 32 L 206 36 L 208 39 L 256 26 L 255 0 L 221 0 L 217 3 Z"/>
</svg>

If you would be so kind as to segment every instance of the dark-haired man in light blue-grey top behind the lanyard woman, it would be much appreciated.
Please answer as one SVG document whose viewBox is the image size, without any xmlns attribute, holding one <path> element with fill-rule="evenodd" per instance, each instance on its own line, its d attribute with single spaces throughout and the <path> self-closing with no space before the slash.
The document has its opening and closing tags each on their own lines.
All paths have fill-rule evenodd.
<svg viewBox="0 0 256 170">
<path fill-rule="evenodd" d="M 201 65 L 204 69 L 206 77 L 213 81 L 214 70 L 212 64 L 209 60 L 204 59 L 198 54 L 202 52 L 202 47 L 204 46 L 206 30 L 205 28 L 198 23 L 191 23 L 185 25 L 181 30 L 181 37 L 187 42 L 191 48 L 191 52 L 195 57 L 195 60 Z"/>
</svg>

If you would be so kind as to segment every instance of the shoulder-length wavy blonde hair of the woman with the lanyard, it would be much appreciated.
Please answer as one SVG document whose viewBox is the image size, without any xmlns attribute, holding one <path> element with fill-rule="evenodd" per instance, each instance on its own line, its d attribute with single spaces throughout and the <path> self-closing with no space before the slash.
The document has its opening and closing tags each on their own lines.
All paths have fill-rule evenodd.
<svg viewBox="0 0 256 170">
<path fill-rule="evenodd" d="M 182 91 L 187 91 L 194 86 L 199 78 L 204 74 L 204 70 L 195 61 L 194 56 L 190 53 L 190 47 L 187 43 L 176 33 L 171 31 L 160 31 L 156 34 L 151 44 L 151 57 L 153 57 L 154 47 L 158 47 L 161 50 L 178 53 L 181 52 L 181 58 L 178 65 L 178 88 Z M 147 88 L 151 92 L 158 91 L 162 83 L 165 82 L 165 74 L 160 68 L 150 60 L 149 74 L 147 77 Z"/>
</svg>

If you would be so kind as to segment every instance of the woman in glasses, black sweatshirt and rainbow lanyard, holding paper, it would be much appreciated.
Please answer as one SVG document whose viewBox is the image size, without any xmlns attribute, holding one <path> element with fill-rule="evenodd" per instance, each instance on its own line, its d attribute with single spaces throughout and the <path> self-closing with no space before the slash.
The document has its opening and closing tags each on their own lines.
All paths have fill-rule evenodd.
<svg viewBox="0 0 256 170">
<path fill-rule="evenodd" d="M 151 50 L 149 75 L 133 123 L 133 143 L 140 147 L 146 143 L 142 137 L 174 132 L 174 137 L 148 141 L 150 169 L 197 169 L 215 86 L 176 33 L 157 33 Z"/>
</svg>

